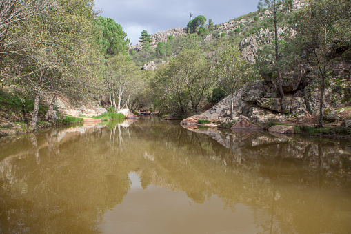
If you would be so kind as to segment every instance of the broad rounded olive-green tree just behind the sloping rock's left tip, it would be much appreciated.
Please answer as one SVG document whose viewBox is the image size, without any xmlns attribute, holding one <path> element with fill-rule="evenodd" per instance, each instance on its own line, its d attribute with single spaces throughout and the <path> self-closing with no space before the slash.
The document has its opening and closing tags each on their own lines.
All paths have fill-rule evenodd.
<svg viewBox="0 0 351 234">
<path fill-rule="evenodd" d="M 156 106 L 180 115 L 196 113 L 212 86 L 210 69 L 199 50 L 183 50 L 176 59 L 156 71 L 152 84 Z"/>
</svg>

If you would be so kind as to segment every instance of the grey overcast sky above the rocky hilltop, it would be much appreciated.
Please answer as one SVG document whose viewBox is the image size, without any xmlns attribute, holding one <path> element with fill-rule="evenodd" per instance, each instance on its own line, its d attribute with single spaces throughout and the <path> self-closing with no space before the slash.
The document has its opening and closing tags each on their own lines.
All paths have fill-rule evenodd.
<svg viewBox="0 0 351 234">
<path fill-rule="evenodd" d="M 114 19 L 127 32 L 132 45 L 139 41 L 141 31 L 149 34 L 168 28 L 184 28 L 194 17 L 203 15 L 214 24 L 225 23 L 257 10 L 259 0 L 95 0 L 103 17 Z"/>
</svg>

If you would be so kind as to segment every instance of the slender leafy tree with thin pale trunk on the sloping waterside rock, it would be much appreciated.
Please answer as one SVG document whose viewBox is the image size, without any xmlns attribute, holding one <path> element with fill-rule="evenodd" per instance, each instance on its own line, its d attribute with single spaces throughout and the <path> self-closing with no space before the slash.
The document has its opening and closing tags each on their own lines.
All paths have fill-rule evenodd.
<svg viewBox="0 0 351 234">
<path fill-rule="evenodd" d="M 255 73 L 237 48 L 227 46 L 219 59 L 215 73 L 222 90 L 230 95 L 230 119 L 234 119 L 234 95 L 244 84 L 254 80 Z"/>
</svg>

